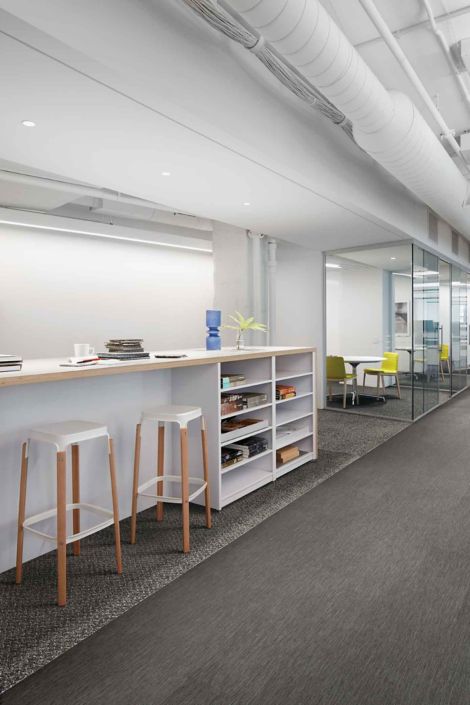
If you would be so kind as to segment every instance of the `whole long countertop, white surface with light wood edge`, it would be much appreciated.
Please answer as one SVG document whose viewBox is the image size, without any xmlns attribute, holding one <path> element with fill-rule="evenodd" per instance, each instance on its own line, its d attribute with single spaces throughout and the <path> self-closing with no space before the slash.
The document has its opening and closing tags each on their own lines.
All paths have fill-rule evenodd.
<svg viewBox="0 0 470 705">
<path fill-rule="evenodd" d="M 21 372 L 0 372 L 0 387 L 13 387 L 21 384 L 39 384 L 42 382 L 60 382 L 68 379 L 84 379 L 87 377 L 108 377 L 109 375 L 129 374 L 131 372 L 151 372 L 167 370 L 175 367 L 191 367 L 208 365 L 217 362 L 233 360 L 254 360 L 272 355 L 294 355 L 296 353 L 315 352 L 315 348 L 296 347 L 252 347 L 245 350 L 223 348 L 214 352 L 206 350 L 170 350 L 158 351 L 158 354 L 185 354 L 187 357 L 178 359 L 156 359 L 154 352 L 150 359 L 118 362 L 113 365 L 96 365 L 93 367 L 61 367 L 67 358 L 45 358 L 25 360 Z"/>
</svg>

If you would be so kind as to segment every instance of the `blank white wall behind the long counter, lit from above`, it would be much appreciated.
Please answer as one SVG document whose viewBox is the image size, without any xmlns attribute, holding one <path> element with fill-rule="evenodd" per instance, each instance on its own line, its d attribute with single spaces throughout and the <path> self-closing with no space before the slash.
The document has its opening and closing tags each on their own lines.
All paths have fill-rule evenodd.
<svg viewBox="0 0 470 705">
<path fill-rule="evenodd" d="M 149 350 L 205 345 L 210 254 L 0 229 L 0 350 L 31 357 L 141 337 Z"/>
</svg>

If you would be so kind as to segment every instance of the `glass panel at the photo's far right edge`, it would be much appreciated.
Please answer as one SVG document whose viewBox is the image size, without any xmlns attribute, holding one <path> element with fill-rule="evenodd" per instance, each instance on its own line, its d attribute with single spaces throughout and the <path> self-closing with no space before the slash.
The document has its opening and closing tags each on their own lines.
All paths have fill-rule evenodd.
<svg viewBox="0 0 470 705">
<path fill-rule="evenodd" d="M 467 274 L 452 265 L 452 343 L 451 390 L 452 394 L 467 386 Z"/>
</svg>

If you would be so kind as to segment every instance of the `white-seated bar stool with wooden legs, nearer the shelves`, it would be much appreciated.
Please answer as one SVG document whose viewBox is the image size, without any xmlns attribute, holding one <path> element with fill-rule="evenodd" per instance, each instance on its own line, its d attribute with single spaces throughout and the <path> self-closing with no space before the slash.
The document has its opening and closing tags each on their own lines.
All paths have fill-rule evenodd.
<svg viewBox="0 0 470 705">
<path fill-rule="evenodd" d="M 190 477 L 188 468 L 188 423 L 194 419 L 201 419 L 201 444 L 202 462 L 204 468 L 204 479 L 200 477 Z M 144 421 L 150 421 L 158 428 L 158 451 L 157 451 L 157 474 L 156 477 L 139 485 L 140 470 L 140 446 L 141 427 Z M 177 423 L 180 427 L 181 446 L 181 475 L 165 475 L 165 423 Z M 135 456 L 134 456 L 134 486 L 132 492 L 132 520 L 131 520 L 131 543 L 136 542 L 137 531 L 137 500 L 142 497 L 152 497 L 157 500 L 156 518 L 163 520 L 163 502 L 182 505 L 183 515 L 183 552 L 189 552 L 189 503 L 198 495 L 204 492 L 206 509 L 206 526 L 212 526 L 211 505 L 209 493 L 209 462 L 207 451 L 206 425 L 202 410 L 198 406 L 159 406 L 142 413 L 140 423 L 137 424 L 135 434 Z M 163 481 L 178 482 L 181 485 L 181 493 L 178 496 L 163 494 Z M 150 494 L 145 490 L 153 484 L 157 484 L 157 493 Z M 190 494 L 190 487 L 194 490 Z"/>
</svg>

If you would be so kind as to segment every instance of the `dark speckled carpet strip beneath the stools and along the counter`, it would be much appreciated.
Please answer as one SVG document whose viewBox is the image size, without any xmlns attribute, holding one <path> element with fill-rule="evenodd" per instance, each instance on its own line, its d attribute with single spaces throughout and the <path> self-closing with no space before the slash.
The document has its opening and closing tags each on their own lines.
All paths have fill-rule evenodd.
<svg viewBox="0 0 470 705">
<path fill-rule="evenodd" d="M 370 420 L 323 411 L 320 457 L 257 492 L 214 513 L 213 529 L 204 528 L 203 512 L 191 513 L 192 550 L 180 552 L 178 507 L 166 509 L 157 525 L 154 510 L 139 518 L 137 546 L 130 546 L 129 521 L 122 522 L 125 572 L 114 572 L 112 530 L 82 542 L 82 555 L 68 558 L 69 601 L 55 607 L 55 554 L 30 561 L 24 583 L 14 571 L 0 576 L 0 692 L 34 673 L 131 607 L 142 602 L 201 561 L 233 542 L 326 479 L 389 438 L 407 424 Z"/>
</svg>

